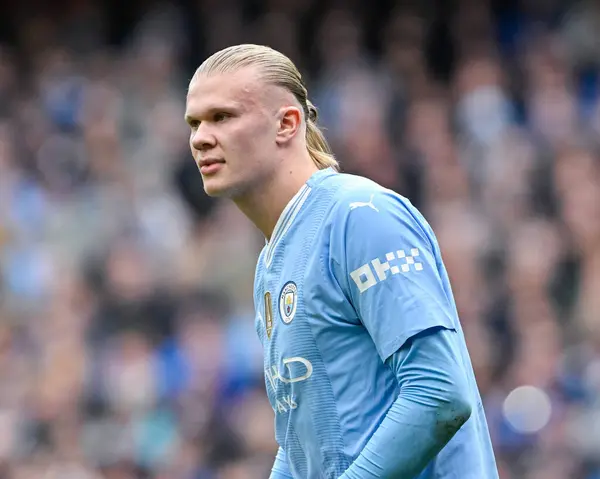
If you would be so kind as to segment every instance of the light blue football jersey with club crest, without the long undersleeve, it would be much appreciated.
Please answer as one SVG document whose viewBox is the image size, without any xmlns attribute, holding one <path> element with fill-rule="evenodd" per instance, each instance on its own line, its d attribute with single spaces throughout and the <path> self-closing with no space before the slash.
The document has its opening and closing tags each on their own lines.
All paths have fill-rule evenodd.
<svg viewBox="0 0 600 479">
<path fill-rule="evenodd" d="M 350 466 L 399 394 L 384 362 L 436 326 L 460 334 L 473 412 L 419 479 L 498 477 L 440 249 L 407 199 L 315 173 L 260 254 L 254 301 L 275 436 L 295 479 L 336 479 Z"/>
</svg>

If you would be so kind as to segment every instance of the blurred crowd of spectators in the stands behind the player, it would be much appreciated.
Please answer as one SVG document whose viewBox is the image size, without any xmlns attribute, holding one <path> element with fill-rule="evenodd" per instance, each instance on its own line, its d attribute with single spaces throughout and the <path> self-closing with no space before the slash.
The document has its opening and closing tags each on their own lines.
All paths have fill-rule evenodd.
<svg viewBox="0 0 600 479">
<path fill-rule="evenodd" d="M 438 234 L 503 479 L 600 477 L 596 2 L 0 7 L 0 477 L 267 477 L 261 238 L 202 190 L 187 82 L 272 45 L 347 171 Z"/>
</svg>

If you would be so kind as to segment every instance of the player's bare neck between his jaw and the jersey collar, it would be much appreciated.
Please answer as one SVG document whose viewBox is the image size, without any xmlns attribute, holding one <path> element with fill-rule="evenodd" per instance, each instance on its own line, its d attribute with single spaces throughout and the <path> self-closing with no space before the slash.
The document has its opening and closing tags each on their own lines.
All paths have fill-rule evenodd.
<svg viewBox="0 0 600 479">
<path fill-rule="evenodd" d="M 260 187 L 233 201 L 268 241 L 286 205 L 317 170 L 312 161 L 303 167 L 282 168 Z"/>
</svg>

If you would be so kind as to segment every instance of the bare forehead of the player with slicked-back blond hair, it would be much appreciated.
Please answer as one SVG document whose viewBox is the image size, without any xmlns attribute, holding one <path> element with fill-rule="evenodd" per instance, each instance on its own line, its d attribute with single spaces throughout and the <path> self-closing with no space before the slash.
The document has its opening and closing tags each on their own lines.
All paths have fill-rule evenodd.
<svg viewBox="0 0 600 479">
<path fill-rule="evenodd" d="M 187 95 L 188 112 L 202 112 L 219 106 L 250 108 L 262 102 L 267 86 L 253 69 L 235 72 L 197 73 Z"/>
</svg>

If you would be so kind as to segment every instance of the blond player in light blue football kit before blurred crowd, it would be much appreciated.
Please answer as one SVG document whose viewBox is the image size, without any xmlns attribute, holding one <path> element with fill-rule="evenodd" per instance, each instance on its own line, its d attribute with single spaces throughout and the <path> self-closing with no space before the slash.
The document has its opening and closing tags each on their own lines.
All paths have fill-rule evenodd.
<svg viewBox="0 0 600 479">
<path fill-rule="evenodd" d="M 237 45 L 197 70 L 190 147 L 211 196 L 267 240 L 256 329 L 272 478 L 497 478 L 452 292 L 425 219 L 338 172 L 300 73 Z"/>
</svg>

